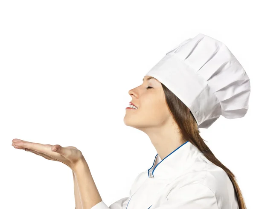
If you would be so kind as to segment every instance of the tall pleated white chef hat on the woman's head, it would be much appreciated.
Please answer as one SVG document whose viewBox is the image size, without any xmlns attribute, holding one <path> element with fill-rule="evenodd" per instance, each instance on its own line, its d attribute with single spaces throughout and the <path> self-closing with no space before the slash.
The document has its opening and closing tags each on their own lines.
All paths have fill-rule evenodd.
<svg viewBox="0 0 256 209">
<path fill-rule="evenodd" d="M 172 91 L 191 111 L 198 128 L 210 127 L 221 115 L 244 117 L 250 79 L 226 45 L 198 34 L 169 51 L 145 76 Z"/>
</svg>

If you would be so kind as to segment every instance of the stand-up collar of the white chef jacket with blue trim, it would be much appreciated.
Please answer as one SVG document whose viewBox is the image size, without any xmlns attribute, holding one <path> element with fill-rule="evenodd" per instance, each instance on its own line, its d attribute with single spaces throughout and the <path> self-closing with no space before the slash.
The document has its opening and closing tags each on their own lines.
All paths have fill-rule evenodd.
<svg viewBox="0 0 256 209">
<path fill-rule="evenodd" d="M 190 141 L 186 141 L 180 147 L 177 147 L 163 160 L 157 153 L 152 167 L 148 169 L 148 178 L 175 178 L 190 167 L 195 162 L 195 158 L 201 154 L 201 151 Z"/>
</svg>

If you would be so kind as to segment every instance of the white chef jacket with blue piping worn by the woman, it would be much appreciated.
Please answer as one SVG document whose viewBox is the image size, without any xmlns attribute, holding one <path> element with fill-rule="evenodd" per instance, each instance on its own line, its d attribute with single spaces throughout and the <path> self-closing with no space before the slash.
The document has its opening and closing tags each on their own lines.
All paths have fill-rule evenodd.
<svg viewBox="0 0 256 209">
<path fill-rule="evenodd" d="M 128 197 L 91 209 L 239 209 L 227 173 L 186 141 L 134 180 Z"/>
</svg>

